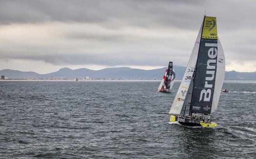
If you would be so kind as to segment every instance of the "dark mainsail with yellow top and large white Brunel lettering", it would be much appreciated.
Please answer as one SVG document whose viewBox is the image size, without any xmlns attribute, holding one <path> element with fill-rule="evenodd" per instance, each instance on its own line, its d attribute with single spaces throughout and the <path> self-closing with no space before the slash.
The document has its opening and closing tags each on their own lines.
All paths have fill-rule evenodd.
<svg viewBox="0 0 256 159">
<path fill-rule="evenodd" d="M 218 54 L 217 29 L 216 33 L 214 32 L 214 30 L 211 31 L 214 32 L 211 34 L 215 36 L 209 36 L 208 38 L 207 34 L 204 34 L 204 29 L 209 31 L 213 27 L 216 27 L 216 18 L 207 18 L 208 19 L 204 20 L 204 28 L 202 32 L 197 64 L 195 68 L 195 79 L 190 106 L 191 113 L 201 113 L 206 115 L 211 113 L 211 106 L 213 103 Z M 212 28 L 207 29 L 210 24 L 212 25 Z"/>
</svg>

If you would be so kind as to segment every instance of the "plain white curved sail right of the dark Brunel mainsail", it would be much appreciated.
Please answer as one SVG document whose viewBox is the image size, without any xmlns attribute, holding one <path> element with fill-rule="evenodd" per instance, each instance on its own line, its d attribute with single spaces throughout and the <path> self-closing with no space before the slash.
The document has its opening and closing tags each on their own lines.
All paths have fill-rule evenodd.
<svg viewBox="0 0 256 159">
<path fill-rule="evenodd" d="M 211 107 L 211 113 L 217 110 L 220 92 L 225 77 L 225 56 L 220 39 L 218 38 L 218 55 L 217 55 L 217 70 L 215 79 L 215 89 L 213 94 L 213 104 Z"/>
</svg>

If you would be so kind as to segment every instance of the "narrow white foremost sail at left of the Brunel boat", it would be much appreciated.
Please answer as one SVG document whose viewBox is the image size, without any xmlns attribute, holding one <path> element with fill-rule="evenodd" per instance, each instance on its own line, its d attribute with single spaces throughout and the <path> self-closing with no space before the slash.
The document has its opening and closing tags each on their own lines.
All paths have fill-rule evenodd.
<svg viewBox="0 0 256 159">
<path fill-rule="evenodd" d="M 187 65 L 187 69 L 185 71 L 185 74 L 183 76 L 182 82 L 180 84 L 180 87 L 177 91 L 177 94 L 173 100 L 173 104 L 171 105 L 169 114 L 174 114 L 174 115 L 180 115 L 180 112 L 182 110 L 183 103 L 185 101 L 185 97 L 187 95 L 189 85 L 192 79 L 192 75 L 194 72 L 194 68 L 197 62 L 197 56 L 198 56 L 198 51 L 199 51 L 199 45 L 200 45 L 200 40 L 201 40 L 201 34 L 202 34 L 202 26 L 199 30 L 199 33 L 197 35 L 197 39 L 195 41 L 195 45 L 193 48 L 193 51 L 190 55 L 189 58 L 189 63 Z M 192 88 L 191 88 L 192 89 Z"/>
</svg>

